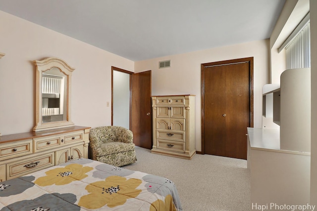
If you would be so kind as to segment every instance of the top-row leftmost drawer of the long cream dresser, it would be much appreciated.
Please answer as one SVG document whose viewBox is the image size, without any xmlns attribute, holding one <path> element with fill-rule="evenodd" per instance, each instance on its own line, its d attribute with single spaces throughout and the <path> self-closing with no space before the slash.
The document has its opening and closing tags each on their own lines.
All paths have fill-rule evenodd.
<svg viewBox="0 0 317 211">
<path fill-rule="evenodd" d="M 33 140 L 1 144 L 0 161 L 33 153 Z"/>
</svg>

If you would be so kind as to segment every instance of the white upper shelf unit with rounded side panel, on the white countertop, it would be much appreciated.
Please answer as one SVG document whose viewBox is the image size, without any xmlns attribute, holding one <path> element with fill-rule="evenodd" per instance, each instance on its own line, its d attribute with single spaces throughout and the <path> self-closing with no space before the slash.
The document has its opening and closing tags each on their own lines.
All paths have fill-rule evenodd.
<svg viewBox="0 0 317 211">
<path fill-rule="evenodd" d="M 263 87 L 263 128 L 280 129 L 282 150 L 311 152 L 311 69 L 285 70 L 280 80 Z"/>
</svg>

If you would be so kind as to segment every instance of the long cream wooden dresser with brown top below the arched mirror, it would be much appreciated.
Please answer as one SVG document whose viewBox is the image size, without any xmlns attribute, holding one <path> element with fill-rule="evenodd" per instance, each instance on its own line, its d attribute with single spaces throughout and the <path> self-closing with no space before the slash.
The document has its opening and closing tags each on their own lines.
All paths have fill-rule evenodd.
<svg viewBox="0 0 317 211">
<path fill-rule="evenodd" d="M 89 130 L 73 126 L 0 136 L 0 182 L 88 158 Z"/>
</svg>

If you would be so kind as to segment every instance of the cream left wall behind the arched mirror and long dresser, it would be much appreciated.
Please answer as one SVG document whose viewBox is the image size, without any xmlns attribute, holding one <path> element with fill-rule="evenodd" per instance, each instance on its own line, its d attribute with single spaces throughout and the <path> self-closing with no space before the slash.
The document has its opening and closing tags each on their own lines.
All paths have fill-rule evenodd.
<svg viewBox="0 0 317 211">
<path fill-rule="evenodd" d="M 134 72 L 134 62 L 0 11 L 0 132 L 35 125 L 34 60 L 59 57 L 75 68 L 71 117 L 75 125 L 111 125 L 111 66 Z M 110 103 L 111 105 L 111 103 Z"/>
</svg>

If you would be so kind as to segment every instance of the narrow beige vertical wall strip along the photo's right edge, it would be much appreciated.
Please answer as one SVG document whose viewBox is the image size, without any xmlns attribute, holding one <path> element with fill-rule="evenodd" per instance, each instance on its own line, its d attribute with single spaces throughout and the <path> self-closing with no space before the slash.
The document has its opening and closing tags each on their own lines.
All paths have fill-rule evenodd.
<svg viewBox="0 0 317 211">
<path fill-rule="evenodd" d="M 310 8 L 312 71 L 311 204 L 317 205 L 317 0 L 310 1 Z"/>
</svg>

